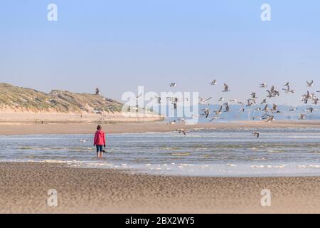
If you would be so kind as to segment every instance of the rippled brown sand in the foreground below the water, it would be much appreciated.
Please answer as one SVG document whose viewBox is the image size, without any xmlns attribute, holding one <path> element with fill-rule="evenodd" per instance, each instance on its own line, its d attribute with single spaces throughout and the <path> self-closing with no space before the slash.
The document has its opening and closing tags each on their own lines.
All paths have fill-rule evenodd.
<svg viewBox="0 0 320 228">
<path fill-rule="evenodd" d="M 320 177 L 164 177 L 41 163 L 0 163 L 2 213 L 320 212 Z M 262 189 L 272 192 L 262 207 Z M 47 204 L 49 189 L 58 207 Z"/>
</svg>

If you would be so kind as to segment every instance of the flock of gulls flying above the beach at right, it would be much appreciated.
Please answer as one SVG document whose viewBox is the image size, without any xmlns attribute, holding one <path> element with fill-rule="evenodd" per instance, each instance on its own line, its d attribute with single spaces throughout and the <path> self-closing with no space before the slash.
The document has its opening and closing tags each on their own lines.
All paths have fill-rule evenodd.
<svg viewBox="0 0 320 228">
<path fill-rule="evenodd" d="M 217 80 L 213 80 L 210 82 L 211 86 L 216 86 L 218 85 L 218 81 Z M 176 87 L 176 83 L 171 83 L 169 85 L 171 88 L 172 87 Z M 307 88 L 312 88 L 314 86 L 314 81 L 306 81 L 306 87 Z M 228 93 L 230 92 L 230 88 L 229 86 L 224 83 L 223 84 L 223 90 L 222 92 L 224 93 Z M 266 88 L 267 91 L 267 96 L 265 98 L 263 98 L 262 102 L 257 103 L 257 94 L 255 92 L 252 92 L 250 95 L 250 98 L 247 98 L 246 102 L 242 102 L 238 99 L 230 99 L 229 102 L 225 102 L 222 105 L 220 105 L 220 108 L 218 108 L 218 110 L 210 110 L 210 108 L 203 108 L 202 113 L 199 115 L 202 115 L 204 118 L 209 118 L 210 114 L 213 113 L 213 115 L 210 116 L 209 118 L 209 122 L 212 122 L 213 120 L 217 120 L 219 118 L 219 115 L 221 115 L 222 113 L 225 112 L 229 112 L 230 111 L 230 103 L 238 103 L 239 105 L 242 105 L 242 108 L 240 108 L 239 112 L 245 112 L 245 108 L 246 107 L 251 107 L 251 106 L 257 106 L 257 108 L 255 108 L 255 112 L 260 111 L 262 112 L 262 116 L 260 117 L 260 120 L 266 120 L 267 123 L 271 123 L 272 121 L 274 121 L 274 113 L 281 113 L 281 111 L 277 108 L 277 105 L 275 103 L 273 103 L 272 107 L 269 107 L 268 103 L 267 103 L 267 98 L 271 99 L 274 97 L 279 97 L 280 95 L 280 90 L 277 90 L 276 88 L 274 88 L 274 86 L 271 86 L 270 89 L 267 89 L 267 83 L 261 83 L 259 85 L 260 88 Z M 290 87 L 290 83 L 287 82 L 284 84 L 282 90 L 284 91 L 284 93 L 296 93 L 296 90 L 292 89 Z M 316 93 L 320 93 L 320 91 L 316 91 Z M 159 97 L 155 97 L 157 99 L 158 103 L 161 103 L 161 98 Z M 179 98 L 167 98 L 171 101 L 171 104 L 174 106 L 174 109 L 176 109 L 178 107 L 178 101 Z M 201 98 L 199 97 L 199 104 L 201 105 L 210 105 L 209 100 L 211 100 L 212 97 L 210 98 Z M 219 102 L 223 102 L 224 98 L 219 98 L 218 99 Z M 318 105 L 319 104 L 319 98 L 316 97 L 315 93 L 310 93 L 309 90 L 306 91 L 305 94 L 302 95 L 302 99 L 301 101 L 304 104 L 313 104 L 313 105 Z M 294 112 L 296 111 L 297 108 L 292 108 L 289 111 L 290 112 Z M 314 111 L 318 111 L 317 109 L 310 107 L 310 108 L 306 108 L 306 110 L 303 110 L 306 113 L 301 113 L 299 115 L 299 120 L 305 120 L 306 119 L 306 115 L 309 113 L 313 113 Z M 193 115 L 193 118 L 198 118 L 199 115 Z M 175 124 L 177 121 L 180 121 L 182 123 L 186 123 L 186 120 L 184 120 L 183 118 L 178 119 L 178 120 L 173 120 L 170 121 L 168 124 Z M 186 135 L 186 130 L 183 129 L 177 129 L 178 133 L 183 133 L 183 135 Z M 259 132 L 255 132 L 252 133 L 252 135 L 254 135 L 255 137 L 259 138 L 260 137 L 260 133 Z"/>
</svg>

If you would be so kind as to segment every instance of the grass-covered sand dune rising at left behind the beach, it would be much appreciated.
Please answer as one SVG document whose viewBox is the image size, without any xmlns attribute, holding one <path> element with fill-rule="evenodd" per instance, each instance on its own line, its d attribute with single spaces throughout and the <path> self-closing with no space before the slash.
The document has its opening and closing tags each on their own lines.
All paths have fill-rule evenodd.
<svg viewBox="0 0 320 228">
<path fill-rule="evenodd" d="M 0 83 L 0 110 L 12 109 L 36 113 L 114 113 L 119 112 L 121 108 L 122 103 L 102 95 L 72 93 L 64 90 L 43 93 L 31 88 Z"/>
</svg>

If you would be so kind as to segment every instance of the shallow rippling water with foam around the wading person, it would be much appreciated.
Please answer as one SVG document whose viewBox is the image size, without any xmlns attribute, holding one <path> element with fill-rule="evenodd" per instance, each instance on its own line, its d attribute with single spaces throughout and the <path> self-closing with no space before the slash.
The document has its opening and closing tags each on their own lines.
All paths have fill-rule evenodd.
<svg viewBox="0 0 320 228">
<path fill-rule="evenodd" d="M 260 131 L 260 138 L 252 133 Z M 87 140 L 87 142 L 79 142 Z M 0 137 L 0 161 L 55 162 L 73 167 L 133 170 L 161 175 L 320 175 L 317 128 L 206 129 L 107 135 L 97 160 L 92 135 Z"/>
</svg>

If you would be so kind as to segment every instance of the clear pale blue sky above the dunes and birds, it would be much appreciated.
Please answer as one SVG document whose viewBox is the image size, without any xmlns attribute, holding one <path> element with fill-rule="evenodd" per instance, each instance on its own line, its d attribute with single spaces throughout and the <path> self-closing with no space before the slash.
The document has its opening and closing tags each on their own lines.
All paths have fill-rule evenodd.
<svg viewBox="0 0 320 228">
<path fill-rule="evenodd" d="M 47 6 L 58 6 L 58 21 Z M 272 21 L 260 6 L 270 4 Z M 199 91 L 245 100 L 262 82 L 296 95 L 312 79 L 320 90 L 320 1 L 1 0 L 0 81 L 38 90 L 65 89 L 120 99 L 125 91 Z M 218 86 L 210 86 L 218 79 Z"/>
</svg>

